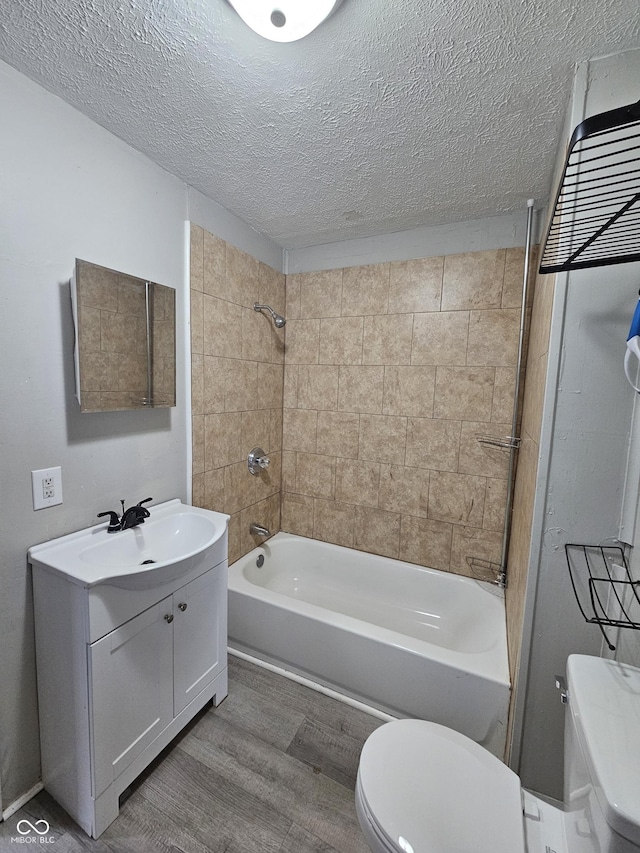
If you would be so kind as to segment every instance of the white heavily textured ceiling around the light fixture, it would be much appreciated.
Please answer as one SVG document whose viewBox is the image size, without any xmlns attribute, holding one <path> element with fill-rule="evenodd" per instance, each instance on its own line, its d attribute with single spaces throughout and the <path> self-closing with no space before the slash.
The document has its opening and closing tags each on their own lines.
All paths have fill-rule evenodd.
<svg viewBox="0 0 640 853">
<path fill-rule="evenodd" d="M 343 0 L 289 44 L 225 0 L 0 10 L 0 58 L 286 248 L 546 198 L 574 64 L 640 46 L 638 0 Z"/>
</svg>

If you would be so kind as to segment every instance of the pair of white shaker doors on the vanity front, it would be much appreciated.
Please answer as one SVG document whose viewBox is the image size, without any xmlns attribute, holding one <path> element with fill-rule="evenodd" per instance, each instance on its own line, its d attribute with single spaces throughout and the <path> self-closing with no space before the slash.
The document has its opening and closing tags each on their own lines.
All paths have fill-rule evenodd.
<svg viewBox="0 0 640 853">
<path fill-rule="evenodd" d="M 96 794 L 226 667 L 224 581 L 212 569 L 89 646 Z"/>
</svg>

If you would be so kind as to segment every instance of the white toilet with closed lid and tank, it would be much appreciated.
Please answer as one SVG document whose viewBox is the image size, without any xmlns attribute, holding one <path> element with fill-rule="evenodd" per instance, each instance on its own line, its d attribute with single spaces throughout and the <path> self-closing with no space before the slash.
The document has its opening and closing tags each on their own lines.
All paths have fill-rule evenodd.
<svg viewBox="0 0 640 853">
<path fill-rule="evenodd" d="M 360 757 L 356 810 L 374 853 L 638 853 L 640 669 L 571 655 L 564 809 L 465 735 L 386 723 Z"/>
</svg>

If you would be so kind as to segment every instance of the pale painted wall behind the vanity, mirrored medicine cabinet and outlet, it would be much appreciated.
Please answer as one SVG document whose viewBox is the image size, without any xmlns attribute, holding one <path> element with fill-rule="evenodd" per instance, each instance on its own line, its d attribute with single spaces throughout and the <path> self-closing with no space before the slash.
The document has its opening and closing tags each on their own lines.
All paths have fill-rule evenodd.
<svg viewBox="0 0 640 853">
<path fill-rule="evenodd" d="M 0 63 L 0 786 L 39 780 L 27 548 L 148 495 L 187 498 L 184 222 L 189 190 L 63 101 Z M 214 221 L 267 263 L 279 247 L 224 208 Z M 173 409 L 80 414 L 67 282 L 75 258 L 178 291 Z M 34 512 L 30 472 L 62 466 L 64 504 Z"/>
</svg>

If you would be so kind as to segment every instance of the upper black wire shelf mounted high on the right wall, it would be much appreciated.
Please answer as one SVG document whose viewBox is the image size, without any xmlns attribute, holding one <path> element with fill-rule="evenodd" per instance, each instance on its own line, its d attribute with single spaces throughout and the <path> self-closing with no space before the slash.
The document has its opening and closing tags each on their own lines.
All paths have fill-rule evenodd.
<svg viewBox="0 0 640 853">
<path fill-rule="evenodd" d="M 591 116 L 569 141 L 541 273 L 640 260 L 640 101 Z"/>
</svg>

